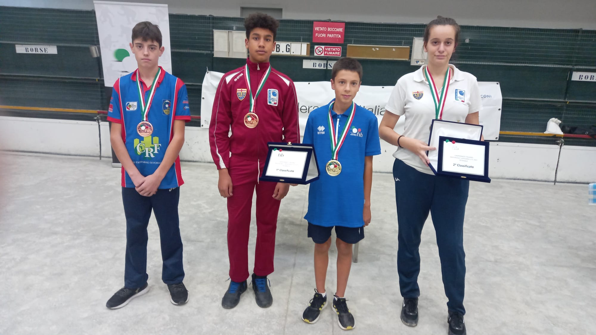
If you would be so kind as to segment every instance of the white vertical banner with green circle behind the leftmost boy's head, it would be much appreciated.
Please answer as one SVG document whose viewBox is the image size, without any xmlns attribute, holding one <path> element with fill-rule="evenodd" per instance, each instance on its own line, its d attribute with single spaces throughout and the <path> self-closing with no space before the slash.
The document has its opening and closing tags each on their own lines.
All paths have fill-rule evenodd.
<svg viewBox="0 0 596 335">
<path fill-rule="evenodd" d="M 150 21 L 159 26 L 162 32 L 162 46 L 165 48 L 162 57 L 159 58 L 159 65 L 172 73 L 167 5 L 113 1 L 93 3 L 100 37 L 105 86 L 111 87 L 116 79 L 136 69 L 135 55 L 132 54 L 129 43 L 132 42 L 132 28 L 142 21 Z"/>
</svg>

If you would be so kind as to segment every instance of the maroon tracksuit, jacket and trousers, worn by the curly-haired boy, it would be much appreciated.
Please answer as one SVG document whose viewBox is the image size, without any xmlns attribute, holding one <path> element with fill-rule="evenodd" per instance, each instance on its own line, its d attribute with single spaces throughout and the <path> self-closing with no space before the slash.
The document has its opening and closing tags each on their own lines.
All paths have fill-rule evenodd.
<svg viewBox="0 0 596 335">
<path fill-rule="evenodd" d="M 249 59 L 246 62 L 254 96 L 270 64 L 257 64 Z M 272 198 L 275 182 L 259 182 L 259 173 L 267 157 L 267 142 L 300 141 L 294 82 L 271 69 L 255 101 L 254 113 L 259 117 L 259 123 L 255 128 L 248 128 L 244 124 L 244 116 L 249 113 L 251 97 L 245 76 L 243 66 L 222 77 L 209 125 L 213 162 L 218 169 L 228 169 L 232 178 L 232 196 L 228 198 L 229 277 L 237 282 L 249 277 L 249 227 L 255 188 L 257 242 L 253 272 L 264 276 L 274 270 L 275 229 L 280 201 Z"/>
</svg>

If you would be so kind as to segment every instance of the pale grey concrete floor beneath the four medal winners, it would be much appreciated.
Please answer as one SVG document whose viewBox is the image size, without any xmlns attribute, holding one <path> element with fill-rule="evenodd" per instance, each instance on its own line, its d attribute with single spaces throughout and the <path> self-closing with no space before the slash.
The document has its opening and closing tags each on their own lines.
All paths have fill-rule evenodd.
<svg viewBox="0 0 596 335">
<path fill-rule="evenodd" d="M 5 154 L 0 160 L 0 334 L 344 334 L 330 308 L 316 324 L 300 318 L 315 286 L 313 244 L 302 218 L 308 187 L 291 188 L 282 201 L 276 271 L 269 276 L 273 306 L 259 308 L 249 290 L 237 308 L 225 310 L 227 218 L 218 175 L 212 164 L 183 163 L 179 208 L 190 301 L 169 302 L 152 218 L 151 290 L 110 311 L 105 302 L 123 286 L 120 169 L 85 157 Z M 465 219 L 469 334 L 594 333 L 596 206 L 588 206 L 586 191 L 586 185 L 471 183 Z M 356 319 L 350 334 L 445 334 L 446 297 L 430 219 L 420 248 L 420 321 L 415 328 L 399 321 L 394 199 L 392 176 L 375 173 L 373 222 L 346 292 Z"/>
</svg>

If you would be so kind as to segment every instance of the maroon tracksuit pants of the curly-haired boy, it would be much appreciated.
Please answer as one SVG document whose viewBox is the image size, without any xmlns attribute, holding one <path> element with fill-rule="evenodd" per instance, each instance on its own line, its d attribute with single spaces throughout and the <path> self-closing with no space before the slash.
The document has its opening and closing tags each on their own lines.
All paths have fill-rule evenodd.
<svg viewBox="0 0 596 335">
<path fill-rule="evenodd" d="M 241 282 L 249 278 L 249 229 L 256 189 L 257 243 L 253 272 L 265 276 L 273 272 L 275 229 L 280 201 L 272 196 L 275 182 L 259 182 L 265 160 L 259 163 L 232 155 L 228 172 L 232 178 L 232 196 L 228 198 L 229 278 Z"/>
</svg>

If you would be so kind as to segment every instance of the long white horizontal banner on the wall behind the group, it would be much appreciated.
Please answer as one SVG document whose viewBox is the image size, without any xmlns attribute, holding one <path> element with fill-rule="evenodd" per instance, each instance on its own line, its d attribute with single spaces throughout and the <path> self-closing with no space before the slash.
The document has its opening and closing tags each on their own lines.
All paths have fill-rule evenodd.
<svg viewBox="0 0 596 335">
<path fill-rule="evenodd" d="M 208 71 L 203 79 L 201 127 L 209 127 L 215 91 L 222 76 L 224 76 L 224 73 Z M 314 109 L 328 104 L 335 97 L 335 92 L 331 89 L 330 82 L 295 82 L 294 85 L 296 86 L 300 111 L 300 135 L 303 135 L 308 114 Z M 483 105 L 479 113 L 480 125 L 484 126 L 482 134 L 485 139 L 494 141 L 499 139 L 499 130 L 501 128 L 501 85 L 497 82 L 479 82 L 478 85 Z M 387 104 L 392 91 L 393 86 L 362 85 L 354 101 L 359 106 L 367 108 L 375 114 L 380 123 L 385 114 L 385 104 Z M 405 118 L 400 117 L 398 124 L 395 126 L 396 132 L 403 132 L 404 122 Z"/>
</svg>

